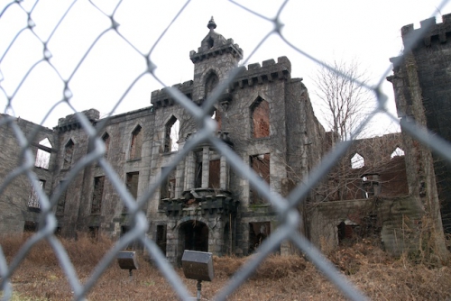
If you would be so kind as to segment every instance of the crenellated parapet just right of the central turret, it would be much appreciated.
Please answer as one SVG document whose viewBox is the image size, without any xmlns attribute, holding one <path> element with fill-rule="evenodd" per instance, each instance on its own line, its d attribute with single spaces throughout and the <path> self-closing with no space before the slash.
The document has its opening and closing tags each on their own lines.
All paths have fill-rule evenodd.
<svg viewBox="0 0 451 301">
<path fill-rule="evenodd" d="M 263 60 L 260 63 L 249 64 L 247 69 L 243 70 L 240 76 L 235 79 L 232 88 L 236 87 L 252 87 L 255 84 L 262 84 L 264 82 L 272 82 L 276 79 L 290 78 L 291 62 L 287 57 L 280 57 L 277 63 L 274 59 Z"/>
</svg>

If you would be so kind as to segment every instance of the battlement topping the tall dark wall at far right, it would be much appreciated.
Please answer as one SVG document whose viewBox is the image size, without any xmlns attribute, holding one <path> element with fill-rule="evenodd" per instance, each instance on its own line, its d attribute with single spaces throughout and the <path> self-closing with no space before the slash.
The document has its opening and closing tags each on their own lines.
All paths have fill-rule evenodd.
<svg viewBox="0 0 451 301">
<path fill-rule="evenodd" d="M 414 29 L 413 24 L 402 26 L 400 32 L 404 46 L 415 48 L 421 41 L 425 46 L 430 46 L 433 41 L 446 42 L 451 36 L 451 14 L 444 14 L 442 21 L 437 23 L 432 17 L 421 21 L 419 29 Z"/>
</svg>

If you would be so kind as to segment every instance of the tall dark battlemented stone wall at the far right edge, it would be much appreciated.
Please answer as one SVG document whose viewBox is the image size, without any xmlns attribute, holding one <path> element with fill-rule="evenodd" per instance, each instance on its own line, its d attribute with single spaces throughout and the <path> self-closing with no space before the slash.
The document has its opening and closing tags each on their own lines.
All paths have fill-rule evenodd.
<svg viewBox="0 0 451 301">
<path fill-rule="evenodd" d="M 443 23 L 435 18 L 401 29 L 407 50 L 393 58 L 393 84 L 398 116 L 404 122 L 414 121 L 429 131 L 451 141 L 451 14 L 443 15 Z M 451 168 L 428 148 L 403 135 L 406 145 L 406 167 L 409 192 L 420 204 L 440 204 L 428 208 L 441 217 L 446 233 L 451 232 Z M 420 200 L 422 199 L 422 201 Z M 427 201 L 429 200 L 429 201 Z M 439 218 L 439 217 L 438 217 Z M 441 226 L 441 225 L 440 225 Z"/>
</svg>

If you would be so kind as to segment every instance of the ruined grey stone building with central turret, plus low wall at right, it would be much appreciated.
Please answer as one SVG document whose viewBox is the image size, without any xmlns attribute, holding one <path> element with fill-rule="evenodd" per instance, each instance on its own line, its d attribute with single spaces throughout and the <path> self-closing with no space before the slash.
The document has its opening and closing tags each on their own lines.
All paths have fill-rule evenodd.
<svg viewBox="0 0 451 301">
<path fill-rule="evenodd" d="M 213 20 L 208 28 L 198 51 L 189 53 L 192 80 L 173 86 L 196 105 L 202 105 L 243 58 L 243 50 L 232 39 L 215 32 Z M 287 196 L 318 165 L 334 135 L 318 123 L 302 80 L 291 78 L 289 59 L 268 59 L 241 68 L 211 112 L 217 137 L 273 191 Z M 95 109 L 83 112 L 90 123 L 102 124 L 99 137 L 105 142 L 105 158 L 135 198 L 143 196 L 198 131 L 198 124 L 165 89 L 152 92 L 151 104 L 107 119 L 100 119 Z M 48 196 L 89 154 L 88 136 L 76 114 L 61 118 L 52 130 L 20 119 L 14 126 L 33 137 L 34 172 Z M 0 177 L 5 181 L 22 154 L 11 126 L 2 126 L 0 137 L 4 162 Z M 372 233 L 382 237 L 388 250 L 402 250 L 402 242 L 393 239 L 400 229 L 397 221 L 403 214 L 418 218 L 421 208 L 410 205 L 411 184 L 403 156 L 406 141 L 400 137 L 395 133 L 356 141 L 344 162 L 311 191 L 307 205 L 299 207 L 305 216 L 299 228 L 312 242 L 330 250 L 353 233 Z M 350 180 L 342 181 L 344 174 Z M 250 254 L 278 225 L 268 200 L 208 143 L 189 151 L 145 202 L 147 235 L 173 263 L 185 249 Z M 53 211 L 58 233 L 69 237 L 77 232 L 120 237 L 133 226 L 124 202 L 98 164 L 78 170 Z M 29 178 L 14 178 L 0 196 L 0 230 L 35 231 L 39 213 L 39 197 Z M 279 252 L 290 253 L 290 245 L 283 243 Z"/>
</svg>

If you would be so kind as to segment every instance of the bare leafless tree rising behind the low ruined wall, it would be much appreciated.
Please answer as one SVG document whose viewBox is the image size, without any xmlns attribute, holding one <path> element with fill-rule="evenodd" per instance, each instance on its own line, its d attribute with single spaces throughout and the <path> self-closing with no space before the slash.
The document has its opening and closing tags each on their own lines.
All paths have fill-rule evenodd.
<svg viewBox="0 0 451 301">
<path fill-rule="evenodd" d="M 336 132 L 340 140 L 350 139 L 365 114 L 373 108 L 373 95 L 364 87 L 369 77 L 359 67 L 355 60 L 334 60 L 330 68 L 320 68 L 313 78 L 326 126 Z M 359 137 L 363 135 L 361 133 Z"/>
</svg>

